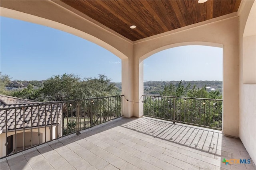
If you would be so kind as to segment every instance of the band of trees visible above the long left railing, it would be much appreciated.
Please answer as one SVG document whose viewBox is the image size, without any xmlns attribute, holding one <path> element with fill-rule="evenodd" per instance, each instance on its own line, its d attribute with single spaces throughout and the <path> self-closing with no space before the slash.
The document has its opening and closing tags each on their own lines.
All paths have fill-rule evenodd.
<svg viewBox="0 0 256 170">
<path fill-rule="evenodd" d="M 16 91 L 8 91 L 5 86 L 10 82 L 10 76 L 1 73 L 0 94 L 45 101 L 64 101 L 85 98 L 97 98 L 102 96 L 120 95 L 120 91 L 111 80 L 104 74 L 99 74 L 97 78 L 81 79 L 75 74 L 56 75 L 48 78 L 40 86 L 38 82 L 32 81 L 27 88 Z M 34 85 L 40 87 L 35 89 Z"/>
</svg>

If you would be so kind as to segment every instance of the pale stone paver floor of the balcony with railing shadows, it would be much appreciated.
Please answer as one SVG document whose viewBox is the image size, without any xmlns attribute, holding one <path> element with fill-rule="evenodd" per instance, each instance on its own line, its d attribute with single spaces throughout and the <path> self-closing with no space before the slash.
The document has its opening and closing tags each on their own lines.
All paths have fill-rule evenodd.
<svg viewBox="0 0 256 170">
<path fill-rule="evenodd" d="M 147 117 L 119 118 L 1 159 L 8 169 L 256 169 L 223 164 L 251 159 L 221 131 Z"/>
</svg>

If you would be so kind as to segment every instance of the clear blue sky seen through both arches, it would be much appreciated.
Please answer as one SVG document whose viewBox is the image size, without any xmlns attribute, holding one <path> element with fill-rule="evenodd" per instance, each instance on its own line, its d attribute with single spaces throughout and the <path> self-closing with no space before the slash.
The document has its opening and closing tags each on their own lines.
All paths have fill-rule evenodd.
<svg viewBox="0 0 256 170">
<path fill-rule="evenodd" d="M 46 80 L 74 73 L 81 78 L 105 74 L 121 82 L 121 60 L 106 49 L 50 27 L 1 17 L 2 74 L 12 80 Z M 222 48 L 183 46 L 144 60 L 144 80 L 222 80 Z"/>
</svg>

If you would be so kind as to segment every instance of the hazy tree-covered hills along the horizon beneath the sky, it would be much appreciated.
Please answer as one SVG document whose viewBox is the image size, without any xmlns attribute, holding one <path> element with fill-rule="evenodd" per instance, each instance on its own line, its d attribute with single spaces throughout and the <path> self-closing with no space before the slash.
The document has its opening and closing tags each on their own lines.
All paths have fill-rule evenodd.
<svg viewBox="0 0 256 170">
<path fill-rule="evenodd" d="M 160 92 L 164 90 L 164 86 L 168 86 L 170 84 L 173 84 L 174 86 L 178 86 L 180 81 L 169 81 L 169 82 L 164 82 L 164 81 L 148 81 L 144 82 L 144 94 L 145 95 L 159 95 Z M 186 87 L 188 84 L 191 84 L 190 88 L 193 88 L 195 85 L 196 88 L 202 88 L 204 86 L 206 87 L 211 87 L 216 90 L 219 90 L 222 93 L 222 81 L 182 81 L 182 85 Z M 121 88 L 121 82 L 115 83 L 118 88 Z"/>
</svg>

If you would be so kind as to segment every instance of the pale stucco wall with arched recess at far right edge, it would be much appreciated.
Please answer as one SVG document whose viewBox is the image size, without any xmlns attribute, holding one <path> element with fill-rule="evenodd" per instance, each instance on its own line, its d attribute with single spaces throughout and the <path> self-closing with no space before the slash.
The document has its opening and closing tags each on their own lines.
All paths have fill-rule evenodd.
<svg viewBox="0 0 256 170">
<path fill-rule="evenodd" d="M 242 1 L 238 10 L 240 19 L 239 137 L 254 163 L 256 162 L 256 77 L 254 77 L 256 75 L 255 6 L 255 1 Z M 249 14 L 254 17 L 253 20 L 248 18 Z"/>
</svg>

